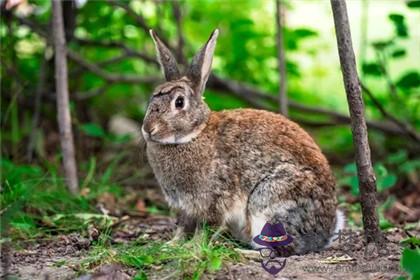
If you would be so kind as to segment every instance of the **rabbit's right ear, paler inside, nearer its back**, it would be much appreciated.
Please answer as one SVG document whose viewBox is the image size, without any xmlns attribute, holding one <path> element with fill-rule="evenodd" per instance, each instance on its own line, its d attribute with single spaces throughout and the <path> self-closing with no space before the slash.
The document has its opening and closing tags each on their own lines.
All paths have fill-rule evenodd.
<svg viewBox="0 0 420 280">
<path fill-rule="evenodd" d="M 200 95 L 204 92 L 204 87 L 210 76 L 211 63 L 213 61 L 213 53 L 218 35 L 219 30 L 214 30 L 207 43 L 194 56 L 187 72 L 187 77 L 193 83 L 194 91 Z"/>
</svg>

